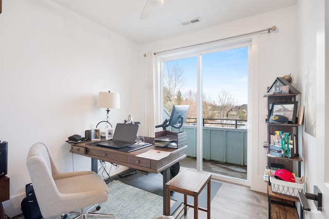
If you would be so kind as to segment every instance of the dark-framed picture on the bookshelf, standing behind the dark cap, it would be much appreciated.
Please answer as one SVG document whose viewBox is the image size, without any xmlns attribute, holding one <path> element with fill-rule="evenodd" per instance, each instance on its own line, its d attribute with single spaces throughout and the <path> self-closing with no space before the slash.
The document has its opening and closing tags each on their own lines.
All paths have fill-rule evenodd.
<svg viewBox="0 0 329 219">
<path fill-rule="evenodd" d="M 272 115 L 283 115 L 288 118 L 288 123 L 296 123 L 298 102 L 278 102 L 272 103 L 271 114 Z"/>
</svg>

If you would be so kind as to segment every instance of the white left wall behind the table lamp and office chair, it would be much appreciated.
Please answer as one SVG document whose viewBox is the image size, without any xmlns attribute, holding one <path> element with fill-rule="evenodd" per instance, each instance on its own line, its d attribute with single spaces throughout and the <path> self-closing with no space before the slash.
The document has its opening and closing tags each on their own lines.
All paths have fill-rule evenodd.
<svg viewBox="0 0 329 219">
<path fill-rule="evenodd" d="M 0 22 L 0 140 L 8 142 L 11 198 L 4 208 L 15 216 L 30 183 L 32 144 L 46 143 L 61 171 L 73 163 L 75 171 L 90 169 L 90 158 L 72 156 L 65 141 L 104 120 L 99 91 L 120 93 L 112 125 L 132 111 L 138 120 L 130 100 L 140 98 L 132 85 L 142 54 L 137 44 L 47 0 L 4 0 Z"/>
</svg>

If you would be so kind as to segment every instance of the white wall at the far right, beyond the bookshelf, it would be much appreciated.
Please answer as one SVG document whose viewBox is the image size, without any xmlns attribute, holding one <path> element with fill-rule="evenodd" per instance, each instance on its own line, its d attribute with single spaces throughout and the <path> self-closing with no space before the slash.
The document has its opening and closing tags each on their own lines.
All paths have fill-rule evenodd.
<svg viewBox="0 0 329 219">
<path fill-rule="evenodd" d="M 329 129 L 329 3 L 325 0 L 298 2 L 299 36 L 299 72 L 302 85 L 302 104 L 307 98 L 314 99 L 316 135 L 305 132 L 303 127 L 302 174 L 306 176 L 305 192 L 313 193 L 313 186 L 318 186 L 323 193 L 322 212 L 305 211 L 304 218 L 329 218 L 329 148 L 327 145 Z M 312 87 L 314 92 L 309 92 Z M 311 110 L 305 108 L 305 118 Z M 312 210 L 316 207 L 309 201 Z"/>
</svg>

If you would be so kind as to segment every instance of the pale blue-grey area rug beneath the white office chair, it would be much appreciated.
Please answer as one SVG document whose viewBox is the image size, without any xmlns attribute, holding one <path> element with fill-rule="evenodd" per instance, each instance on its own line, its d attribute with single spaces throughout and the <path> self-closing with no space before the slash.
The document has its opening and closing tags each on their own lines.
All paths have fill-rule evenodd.
<svg viewBox="0 0 329 219">
<path fill-rule="evenodd" d="M 114 214 L 115 219 L 154 219 L 163 215 L 163 197 L 120 181 L 107 184 L 109 195 L 107 202 L 101 203 L 99 213 Z M 175 201 L 171 200 L 171 206 Z M 93 212 L 93 211 L 92 211 Z M 67 219 L 74 218 L 77 213 L 68 213 Z M 24 217 L 20 217 L 20 219 Z M 60 215 L 47 219 L 58 219 Z"/>
</svg>

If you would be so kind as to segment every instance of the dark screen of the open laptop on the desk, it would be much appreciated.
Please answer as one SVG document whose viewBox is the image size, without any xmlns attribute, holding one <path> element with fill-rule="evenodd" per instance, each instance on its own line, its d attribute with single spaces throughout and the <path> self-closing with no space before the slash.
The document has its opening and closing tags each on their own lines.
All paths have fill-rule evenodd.
<svg viewBox="0 0 329 219">
<path fill-rule="evenodd" d="M 118 123 L 114 131 L 113 140 L 134 143 L 137 137 L 137 131 L 137 124 Z"/>
</svg>

